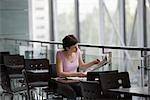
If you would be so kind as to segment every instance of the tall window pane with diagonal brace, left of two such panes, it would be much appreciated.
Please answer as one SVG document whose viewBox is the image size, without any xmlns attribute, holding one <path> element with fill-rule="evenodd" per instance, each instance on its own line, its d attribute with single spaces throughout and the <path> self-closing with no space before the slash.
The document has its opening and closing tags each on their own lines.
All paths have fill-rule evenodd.
<svg viewBox="0 0 150 100">
<path fill-rule="evenodd" d="M 104 0 L 104 45 L 120 45 L 122 37 L 119 32 L 118 0 Z"/>
</svg>

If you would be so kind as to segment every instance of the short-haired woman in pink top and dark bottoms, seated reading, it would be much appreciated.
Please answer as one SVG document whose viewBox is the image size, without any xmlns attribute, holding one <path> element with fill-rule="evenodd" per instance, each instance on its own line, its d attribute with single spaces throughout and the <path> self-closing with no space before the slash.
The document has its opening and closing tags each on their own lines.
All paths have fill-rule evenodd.
<svg viewBox="0 0 150 100">
<path fill-rule="evenodd" d="M 59 77 L 84 77 L 86 74 L 77 72 L 78 67 L 90 67 L 99 64 L 100 60 L 96 59 L 89 63 L 82 60 L 80 49 L 78 48 L 78 40 L 74 35 L 67 35 L 62 40 L 63 49 L 56 54 L 56 70 Z M 79 84 L 58 84 L 58 93 L 68 99 L 75 99 L 81 96 Z"/>
</svg>

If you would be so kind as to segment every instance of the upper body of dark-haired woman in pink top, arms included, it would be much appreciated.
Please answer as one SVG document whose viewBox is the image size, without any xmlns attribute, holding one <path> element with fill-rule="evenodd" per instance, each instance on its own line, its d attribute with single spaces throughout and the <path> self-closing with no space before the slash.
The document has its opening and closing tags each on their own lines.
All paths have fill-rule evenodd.
<svg viewBox="0 0 150 100">
<path fill-rule="evenodd" d="M 74 35 L 67 35 L 62 42 L 64 50 L 58 51 L 56 55 L 56 67 L 59 77 L 86 76 L 82 72 L 77 72 L 77 68 L 87 68 L 100 63 L 100 60 L 98 59 L 89 63 L 83 62 L 80 49 L 77 44 L 78 40 Z"/>
</svg>

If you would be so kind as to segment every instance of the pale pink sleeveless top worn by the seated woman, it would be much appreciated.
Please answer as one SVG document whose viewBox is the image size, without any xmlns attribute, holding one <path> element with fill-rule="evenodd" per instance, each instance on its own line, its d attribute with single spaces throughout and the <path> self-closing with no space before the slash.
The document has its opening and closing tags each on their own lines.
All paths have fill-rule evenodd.
<svg viewBox="0 0 150 100">
<path fill-rule="evenodd" d="M 57 51 L 57 56 L 62 60 L 64 72 L 77 72 L 77 68 L 79 67 L 79 59 L 80 59 L 79 49 L 76 52 L 73 62 L 69 62 L 66 60 L 63 51 Z"/>
</svg>

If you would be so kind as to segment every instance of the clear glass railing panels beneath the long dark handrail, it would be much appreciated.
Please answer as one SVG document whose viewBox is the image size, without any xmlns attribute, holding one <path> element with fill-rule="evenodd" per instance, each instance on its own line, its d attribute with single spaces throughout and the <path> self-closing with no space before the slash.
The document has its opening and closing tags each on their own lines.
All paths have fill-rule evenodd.
<svg viewBox="0 0 150 100">
<path fill-rule="evenodd" d="M 61 42 L 31 41 L 0 38 L 0 51 L 9 51 L 11 54 L 24 55 L 25 59 L 48 58 L 50 63 L 55 63 L 56 51 L 62 49 Z M 104 67 L 95 65 L 92 71 L 119 70 L 128 71 L 133 86 L 148 85 L 148 71 L 150 66 L 150 48 L 100 46 L 81 44 L 82 57 L 85 62 L 93 59 L 108 58 Z M 85 71 L 86 69 L 81 69 Z"/>
</svg>

